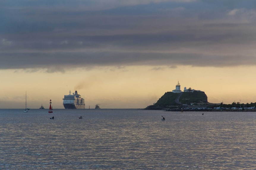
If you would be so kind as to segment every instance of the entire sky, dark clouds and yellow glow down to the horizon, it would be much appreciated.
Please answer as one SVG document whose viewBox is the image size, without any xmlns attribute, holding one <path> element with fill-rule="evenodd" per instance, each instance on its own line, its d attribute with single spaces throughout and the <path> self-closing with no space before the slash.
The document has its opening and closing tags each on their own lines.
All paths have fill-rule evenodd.
<svg viewBox="0 0 256 170">
<path fill-rule="evenodd" d="M 146 108 L 175 89 L 256 102 L 255 0 L 1 0 L 0 109 Z"/>
</svg>

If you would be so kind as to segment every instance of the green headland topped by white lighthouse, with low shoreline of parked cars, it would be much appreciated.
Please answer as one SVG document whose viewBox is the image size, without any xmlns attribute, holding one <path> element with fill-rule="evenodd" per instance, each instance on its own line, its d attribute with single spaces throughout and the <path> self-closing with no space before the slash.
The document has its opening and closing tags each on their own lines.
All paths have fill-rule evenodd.
<svg viewBox="0 0 256 170">
<path fill-rule="evenodd" d="M 156 103 L 147 106 L 145 109 L 166 111 L 256 111 L 255 106 L 256 103 L 209 103 L 205 92 L 192 88 L 187 89 L 186 87 L 184 87 L 184 91 L 181 91 L 178 82 L 175 90 L 166 92 Z"/>
</svg>

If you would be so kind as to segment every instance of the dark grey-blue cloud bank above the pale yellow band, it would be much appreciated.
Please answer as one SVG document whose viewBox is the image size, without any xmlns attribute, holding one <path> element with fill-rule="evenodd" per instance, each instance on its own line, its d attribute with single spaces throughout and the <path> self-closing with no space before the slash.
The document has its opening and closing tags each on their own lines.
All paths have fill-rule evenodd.
<svg viewBox="0 0 256 170">
<path fill-rule="evenodd" d="M 2 1 L 0 69 L 256 64 L 254 1 L 106 2 Z"/>
</svg>

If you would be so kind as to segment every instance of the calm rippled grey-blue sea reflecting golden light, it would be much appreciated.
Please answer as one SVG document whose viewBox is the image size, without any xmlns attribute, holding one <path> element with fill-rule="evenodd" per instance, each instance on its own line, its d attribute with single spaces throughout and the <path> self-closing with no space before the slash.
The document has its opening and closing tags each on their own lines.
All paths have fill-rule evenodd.
<svg viewBox="0 0 256 170">
<path fill-rule="evenodd" d="M 256 112 L 0 109 L 0 120 L 0 169 L 256 169 Z"/>
</svg>

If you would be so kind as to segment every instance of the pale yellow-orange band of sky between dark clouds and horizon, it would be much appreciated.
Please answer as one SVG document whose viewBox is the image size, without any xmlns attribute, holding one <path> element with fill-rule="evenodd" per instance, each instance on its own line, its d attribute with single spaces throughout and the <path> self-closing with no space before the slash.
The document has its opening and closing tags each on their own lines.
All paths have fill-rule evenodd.
<svg viewBox="0 0 256 170">
<path fill-rule="evenodd" d="M 184 87 L 201 90 L 208 96 L 208 102 L 230 104 L 255 102 L 255 80 L 251 75 L 253 67 L 162 67 L 129 66 L 122 69 L 94 68 L 72 70 L 66 73 L 25 72 L 24 70 L 1 70 L 1 109 L 23 108 L 25 92 L 31 109 L 41 104 L 64 109 L 64 95 L 78 90 L 85 99 L 86 108 L 99 104 L 101 108 L 145 108 L 175 89 L 177 82 Z"/>
</svg>

